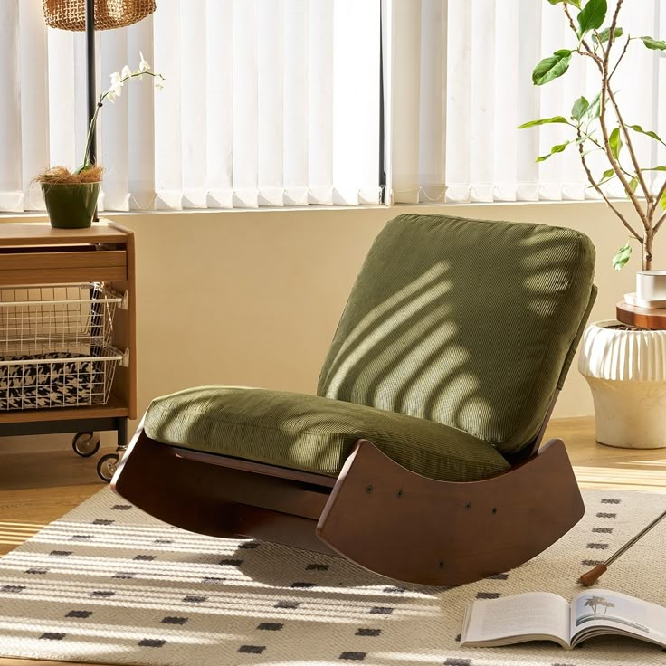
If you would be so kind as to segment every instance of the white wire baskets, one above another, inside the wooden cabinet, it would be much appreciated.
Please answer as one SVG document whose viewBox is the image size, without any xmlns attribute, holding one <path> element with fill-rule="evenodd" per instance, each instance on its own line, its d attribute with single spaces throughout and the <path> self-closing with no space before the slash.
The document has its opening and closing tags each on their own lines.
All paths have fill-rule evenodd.
<svg viewBox="0 0 666 666">
<path fill-rule="evenodd" d="M 106 404 L 123 297 L 103 283 L 0 289 L 0 412 Z"/>
</svg>

